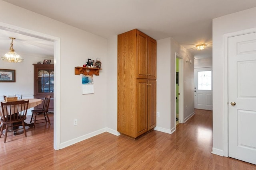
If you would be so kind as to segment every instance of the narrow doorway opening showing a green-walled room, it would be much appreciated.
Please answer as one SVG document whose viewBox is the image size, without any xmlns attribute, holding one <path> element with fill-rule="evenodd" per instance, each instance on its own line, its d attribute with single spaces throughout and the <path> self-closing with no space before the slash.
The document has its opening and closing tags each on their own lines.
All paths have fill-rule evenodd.
<svg viewBox="0 0 256 170">
<path fill-rule="evenodd" d="M 175 53 L 175 127 L 179 123 L 184 123 L 184 89 L 183 89 L 183 57 Z"/>
</svg>

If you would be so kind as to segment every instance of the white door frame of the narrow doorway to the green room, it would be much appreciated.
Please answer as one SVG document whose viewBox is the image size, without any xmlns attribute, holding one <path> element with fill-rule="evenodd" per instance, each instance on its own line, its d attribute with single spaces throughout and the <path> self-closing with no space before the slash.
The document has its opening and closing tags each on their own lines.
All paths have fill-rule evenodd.
<svg viewBox="0 0 256 170">
<path fill-rule="evenodd" d="M 183 84 L 183 57 L 182 55 L 175 53 L 175 63 L 176 59 L 179 59 L 179 123 L 184 123 L 184 84 Z M 175 76 L 174 76 L 174 87 L 176 92 L 176 64 L 175 64 Z M 175 109 L 175 118 L 174 118 L 174 125 L 176 130 L 176 100 L 174 100 L 174 109 Z"/>
</svg>

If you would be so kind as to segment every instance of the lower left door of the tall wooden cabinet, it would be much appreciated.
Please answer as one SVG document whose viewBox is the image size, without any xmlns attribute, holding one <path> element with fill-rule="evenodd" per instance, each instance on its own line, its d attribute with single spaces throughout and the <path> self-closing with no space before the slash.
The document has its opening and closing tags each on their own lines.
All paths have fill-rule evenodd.
<svg viewBox="0 0 256 170">
<path fill-rule="evenodd" d="M 137 135 L 136 137 L 142 135 L 148 131 L 148 80 L 137 79 L 136 84 L 136 107 L 137 107 Z"/>
</svg>

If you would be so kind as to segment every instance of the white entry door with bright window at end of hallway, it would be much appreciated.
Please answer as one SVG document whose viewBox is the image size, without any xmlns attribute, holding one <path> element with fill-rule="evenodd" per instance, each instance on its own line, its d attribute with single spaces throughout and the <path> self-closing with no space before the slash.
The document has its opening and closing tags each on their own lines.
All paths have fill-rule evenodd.
<svg viewBox="0 0 256 170">
<path fill-rule="evenodd" d="M 212 67 L 195 68 L 195 109 L 212 110 Z"/>
</svg>

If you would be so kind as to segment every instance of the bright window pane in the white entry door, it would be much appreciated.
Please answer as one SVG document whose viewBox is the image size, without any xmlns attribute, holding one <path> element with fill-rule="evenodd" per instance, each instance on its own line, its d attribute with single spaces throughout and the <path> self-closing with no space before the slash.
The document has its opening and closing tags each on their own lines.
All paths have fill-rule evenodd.
<svg viewBox="0 0 256 170">
<path fill-rule="evenodd" d="M 198 71 L 198 90 L 212 90 L 212 71 Z"/>
</svg>

